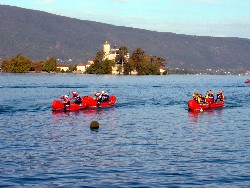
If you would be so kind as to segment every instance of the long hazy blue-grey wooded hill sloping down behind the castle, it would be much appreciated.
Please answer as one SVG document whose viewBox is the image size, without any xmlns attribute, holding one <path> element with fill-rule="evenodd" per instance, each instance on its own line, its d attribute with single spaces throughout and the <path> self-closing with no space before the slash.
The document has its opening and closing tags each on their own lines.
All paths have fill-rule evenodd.
<svg viewBox="0 0 250 188">
<path fill-rule="evenodd" d="M 0 57 L 54 56 L 86 61 L 102 44 L 136 48 L 167 59 L 171 68 L 250 69 L 250 39 L 181 35 L 78 20 L 0 5 Z"/>
</svg>

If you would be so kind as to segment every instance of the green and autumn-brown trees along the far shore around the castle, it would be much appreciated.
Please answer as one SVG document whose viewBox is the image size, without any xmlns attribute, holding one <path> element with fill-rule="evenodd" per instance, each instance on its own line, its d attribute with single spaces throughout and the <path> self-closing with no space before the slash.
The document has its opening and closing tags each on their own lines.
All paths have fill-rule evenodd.
<svg viewBox="0 0 250 188">
<path fill-rule="evenodd" d="M 87 74 L 112 74 L 112 69 L 117 69 L 119 74 L 129 75 L 132 72 L 137 75 L 159 75 L 160 66 L 166 61 L 164 58 L 148 55 L 141 48 L 137 48 L 129 57 L 129 50 L 126 46 L 121 46 L 114 60 L 105 59 L 103 50 L 96 53 L 94 63 L 87 70 Z M 55 57 L 50 57 L 44 61 L 32 61 L 29 58 L 19 54 L 14 58 L 3 59 L 1 62 L 3 72 L 26 73 L 35 72 L 64 72 L 57 69 Z M 71 66 L 69 72 L 76 69 Z"/>
</svg>

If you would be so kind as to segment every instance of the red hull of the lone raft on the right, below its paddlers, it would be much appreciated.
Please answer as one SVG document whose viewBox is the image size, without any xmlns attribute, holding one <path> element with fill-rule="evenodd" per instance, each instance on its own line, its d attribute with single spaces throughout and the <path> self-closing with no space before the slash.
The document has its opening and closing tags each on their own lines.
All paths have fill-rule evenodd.
<svg viewBox="0 0 250 188">
<path fill-rule="evenodd" d="M 224 102 L 211 102 L 205 104 L 199 104 L 195 100 L 188 101 L 188 109 L 191 111 L 203 111 L 211 108 L 222 108 L 224 106 Z"/>
</svg>

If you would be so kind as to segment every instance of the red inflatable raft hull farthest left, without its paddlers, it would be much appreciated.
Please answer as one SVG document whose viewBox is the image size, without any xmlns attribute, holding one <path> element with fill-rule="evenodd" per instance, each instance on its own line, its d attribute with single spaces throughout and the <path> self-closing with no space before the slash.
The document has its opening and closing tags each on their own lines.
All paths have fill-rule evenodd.
<svg viewBox="0 0 250 188">
<path fill-rule="evenodd" d="M 88 105 L 84 101 L 81 104 L 71 103 L 70 106 L 66 108 L 64 108 L 64 104 L 59 100 L 54 100 L 52 102 L 53 111 L 75 111 L 75 110 L 83 110 L 87 107 Z"/>
</svg>

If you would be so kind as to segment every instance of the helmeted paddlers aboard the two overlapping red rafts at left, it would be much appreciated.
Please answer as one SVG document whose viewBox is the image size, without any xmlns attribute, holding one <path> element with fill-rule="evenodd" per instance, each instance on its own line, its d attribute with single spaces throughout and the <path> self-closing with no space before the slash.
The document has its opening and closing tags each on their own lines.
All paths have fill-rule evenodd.
<svg viewBox="0 0 250 188">
<path fill-rule="evenodd" d="M 80 97 L 80 95 L 77 92 L 72 91 L 72 90 L 70 90 L 70 92 L 72 93 L 71 98 L 69 97 L 69 95 L 62 95 L 60 97 L 60 99 L 63 99 L 64 107 L 66 108 L 66 107 L 70 106 L 70 101 L 73 99 L 74 99 L 75 104 L 81 105 L 82 98 Z M 109 95 L 105 91 L 95 92 L 94 93 L 94 100 L 96 100 L 97 103 L 100 104 L 101 102 L 109 101 Z"/>
</svg>

